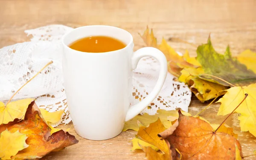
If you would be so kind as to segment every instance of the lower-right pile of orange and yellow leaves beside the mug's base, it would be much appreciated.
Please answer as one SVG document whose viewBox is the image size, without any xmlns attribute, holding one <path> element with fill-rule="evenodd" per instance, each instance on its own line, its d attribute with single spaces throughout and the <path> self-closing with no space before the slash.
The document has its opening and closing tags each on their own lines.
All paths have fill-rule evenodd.
<svg viewBox="0 0 256 160">
<path fill-rule="evenodd" d="M 244 99 L 246 97 L 247 94 Z M 239 105 L 233 111 L 239 108 Z M 142 149 L 148 160 L 243 158 L 238 135 L 233 132 L 233 128 L 226 126 L 224 122 L 221 125 L 210 124 L 202 117 L 193 117 L 180 110 L 159 110 L 154 116 L 138 115 L 126 122 L 124 131 L 127 129 L 138 131 L 132 140 L 131 150 Z"/>
</svg>

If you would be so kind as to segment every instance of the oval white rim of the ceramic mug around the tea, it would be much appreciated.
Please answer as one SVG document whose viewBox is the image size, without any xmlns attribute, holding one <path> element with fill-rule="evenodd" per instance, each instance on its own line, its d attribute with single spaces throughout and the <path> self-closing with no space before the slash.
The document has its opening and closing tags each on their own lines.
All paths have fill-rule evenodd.
<svg viewBox="0 0 256 160">
<path fill-rule="evenodd" d="M 109 27 L 109 28 L 114 28 L 114 29 L 121 29 L 123 32 L 128 33 L 129 38 L 130 38 L 129 43 L 128 43 L 124 48 L 117 49 L 117 50 L 114 50 L 114 51 L 108 51 L 108 52 L 82 52 L 82 51 L 79 51 L 79 50 L 76 50 L 76 49 L 72 49 L 72 48 L 68 47 L 67 44 L 64 43 L 64 39 L 65 39 L 68 35 L 72 34 L 72 32 L 75 32 L 76 30 L 79 30 L 79 29 L 81 29 L 81 28 L 87 28 L 87 27 Z M 95 53 L 97 53 L 97 54 L 95 54 L 95 55 L 98 55 L 98 54 L 108 54 L 108 53 L 113 53 L 113 52 L 119 52 L 119 51 L 122 51 L 122 50 L 127 49 L 128 47 L 131 46 L 131 44 L 133 44 L 133 37 L 132 37 L 132 35 L 131 35 L 130 32 L 126 31 L 125 29 L 118 28 L 118 27 L 115 27 L 115 26 L 107 26 L 107 25 L 88 25 L 88 26 L 80 26 L 80 27 L 74 28 L 74 29 L 72 29 L 70 32 L 65 33 L 65 34 L 62 36 L 62 38 L 61 38 L 61 43 L 62 43 L 62 45 L 63 45 L 64 47 L 67 47 L 67 49 L 71 49 L 71 50 L 73 50 L 73 51 L 75 51 L 75 52 L 79 52 L 79 53 L 83 53 L 83 54 L 95 54 Z"/>
</svg>

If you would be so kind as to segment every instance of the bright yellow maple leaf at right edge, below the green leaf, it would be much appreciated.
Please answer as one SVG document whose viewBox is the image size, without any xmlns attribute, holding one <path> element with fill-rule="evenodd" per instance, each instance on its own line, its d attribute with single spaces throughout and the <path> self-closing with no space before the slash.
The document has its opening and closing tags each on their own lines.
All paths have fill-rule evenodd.
<svg viewBox="0 0 256 160">
<path fill-rule="evenodd" d="M 240 121 L 241 131 L 249 131 L 256 136 L 256 84 L 243 87 L 231 87 L 226 91 L 227 93 L 218 100 L 218 102 L 221 102 L 221 106 L 217 115 L 227 115 L 231 113 L 244 99 L 244 94 L 247 93 L 247 98 L 235 112 L 239 113 L 238 119 Z"/>
</svg>

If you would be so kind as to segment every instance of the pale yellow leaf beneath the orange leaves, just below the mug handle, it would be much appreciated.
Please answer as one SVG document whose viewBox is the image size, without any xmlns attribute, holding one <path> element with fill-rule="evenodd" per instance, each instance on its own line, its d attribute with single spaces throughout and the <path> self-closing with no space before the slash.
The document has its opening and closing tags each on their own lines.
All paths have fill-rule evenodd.
<svg viewBox="0 0 256 160">
<path fill-rule="evenodd" d="M 190 116 L 189 113 L 182 111 L 184 115 Z M 157 121 L 158 117 L 161 119 L 161 122 L 166 128 L 169 128 L 172 125 L 172 121 L 178 119 L 179 113 L 178 111 L 166 111 L 166 110 L 157 110 L 155 115 L 148 115 L 148 113 L 144 113 L 143 115 L 137 115 L 133 119 L 125 122 L 125 126 L 123 131 L 127 131 L 128 129 L 132 129 L 134 131 L 139 131 L 138 121 L 145 126 Z"/>
</svg>

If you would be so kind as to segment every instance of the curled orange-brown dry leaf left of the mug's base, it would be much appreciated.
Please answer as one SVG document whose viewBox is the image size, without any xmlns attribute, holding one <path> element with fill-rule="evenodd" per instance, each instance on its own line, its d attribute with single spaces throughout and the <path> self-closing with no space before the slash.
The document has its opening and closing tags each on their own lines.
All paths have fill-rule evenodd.
<svg viewBox="0 0 256 160">
<path fill-rule="evenodd" d="M 51 151 L 59 151 L 69 145 L 78 143 L 78 140 L 68 132 L 57 131 L 50 136 L 51 128 L 42 118 L 41 112 L 33 101 L 27 108 L 23 120 L 0 125 L 0 133 L 5 130 L 14 133 L 19 131 L 28 137 L 29 147 L 18 152 L 12 158 L 15 160 L 39 159 Z"/>
</svg>

